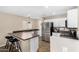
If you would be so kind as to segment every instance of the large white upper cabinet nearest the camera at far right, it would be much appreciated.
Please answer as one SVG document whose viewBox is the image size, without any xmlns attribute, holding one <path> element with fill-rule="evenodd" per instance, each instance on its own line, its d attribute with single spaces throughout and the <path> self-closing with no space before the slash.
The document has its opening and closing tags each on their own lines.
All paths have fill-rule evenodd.
<svg viewBox="0 0 79 59">
<path fill-rule="evenodd" d="M 78 9 L 72 9 L 67 12 L 68 28 L 78 28 Z"/>
</svg>

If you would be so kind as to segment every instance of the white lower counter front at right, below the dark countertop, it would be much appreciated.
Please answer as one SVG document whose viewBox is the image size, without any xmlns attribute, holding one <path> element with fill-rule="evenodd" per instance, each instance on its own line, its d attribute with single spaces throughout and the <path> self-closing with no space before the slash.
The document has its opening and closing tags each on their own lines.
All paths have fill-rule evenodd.
<svg viewBox="0 0 79 59">
<path fill-rule="evenodd" d="M 51 36 L 50 51 L 51 52 L 79 52 L 79 40 L 74 40 L 60 36 Z"/>
</svg>

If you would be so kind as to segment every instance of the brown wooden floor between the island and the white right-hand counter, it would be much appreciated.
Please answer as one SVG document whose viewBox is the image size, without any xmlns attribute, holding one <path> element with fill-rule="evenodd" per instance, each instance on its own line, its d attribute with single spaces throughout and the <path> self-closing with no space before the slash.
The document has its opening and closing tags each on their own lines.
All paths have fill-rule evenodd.
<svg viewBox="0 0 79 59">
<path fill-rule="evenodd" d="M 46 41 L 40 41 L 39 52 L 50 52 L 50 43 Z"/>
</svg>

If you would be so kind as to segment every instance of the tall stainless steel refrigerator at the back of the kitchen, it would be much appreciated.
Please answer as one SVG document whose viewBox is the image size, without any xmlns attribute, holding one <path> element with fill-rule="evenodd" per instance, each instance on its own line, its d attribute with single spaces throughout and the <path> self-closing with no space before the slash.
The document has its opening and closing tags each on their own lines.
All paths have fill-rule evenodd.
<svg viewBox="0 0 79 59">
<path fill-rule="evenodd" d="M 50 42 L 50 26 L 49 22 L 42 23 L 42 40 Z"/>
</svg>

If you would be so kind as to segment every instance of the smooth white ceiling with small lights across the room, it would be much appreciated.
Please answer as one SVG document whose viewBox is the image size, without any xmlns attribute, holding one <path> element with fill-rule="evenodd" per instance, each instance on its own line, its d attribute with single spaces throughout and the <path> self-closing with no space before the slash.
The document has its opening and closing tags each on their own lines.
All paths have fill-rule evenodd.
<svg viewBox="0 0 79 59">
<path fill-rule="evenodd" d="M 63 15 L 76 6 L 0 6 L 0 12 L 18 16 L 39 18 L 43 16 Z"/>
</svg>

